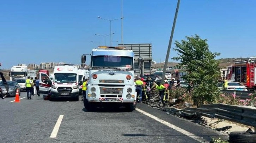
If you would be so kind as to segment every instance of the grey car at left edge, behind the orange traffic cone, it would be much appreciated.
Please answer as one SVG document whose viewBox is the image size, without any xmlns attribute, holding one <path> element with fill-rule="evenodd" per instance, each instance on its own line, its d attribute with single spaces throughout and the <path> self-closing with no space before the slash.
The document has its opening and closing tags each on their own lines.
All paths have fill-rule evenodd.
<svg viewBox="0 0 256 143">
<path fill-rule="evenodd" d="M 8 83 L 8 86 L 9 86 L 9 91 L 8 91 L 8 94 L 7 94 L 7 91 L 5 89 L 5 86 L 4 86 L 4 83 L 2 81 L 0 81 L 0 88 L 2 89 L 2 93 L 3 95 L 6 95 L 7 96 L 16 96 L 16 91 L 17 89 L 19 89 L 19 96 L 20 96 L 20 86 L 19 84 L 16 82 L 16 81 L 7 81 Z"/>
</svg>

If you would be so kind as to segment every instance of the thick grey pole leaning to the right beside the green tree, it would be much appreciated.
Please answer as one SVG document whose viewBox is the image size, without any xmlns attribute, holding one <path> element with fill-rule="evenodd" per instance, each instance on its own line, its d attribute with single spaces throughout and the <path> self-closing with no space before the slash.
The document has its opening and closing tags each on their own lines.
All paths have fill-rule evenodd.
<svg viewBox="0 0 256 143">
<path fill-rule="evenodd" d="M 169 60 L 169 55 L 170 55 L 170 50 L 171 50 L 171 45 L 172 45 L 173 33 L 174 33 L 176 19 L 177 19 L 177 15 L 178 15 L 178 11 L 179 11 L 179 2 L 180 2 L 180 0 L 178 0 L 177 7 L 176 7 L 176 12 L 175 12 L 175 16 L 174 16 L 174 20 L 173 20 L 173 24 L 172 24 L 172 31 L 171 31 L 171 36 L 170 36 L 169 45 L 168 45 L 168 49 L 167 49 L 167 54 L 166 54 L 166 58 L 165 58 L 164 70 L 163 70 L 161 83 L 164 83 L 165 72 L 166 72 L 167 63 L 168 63 L 168 60 Z"/>
</svg>

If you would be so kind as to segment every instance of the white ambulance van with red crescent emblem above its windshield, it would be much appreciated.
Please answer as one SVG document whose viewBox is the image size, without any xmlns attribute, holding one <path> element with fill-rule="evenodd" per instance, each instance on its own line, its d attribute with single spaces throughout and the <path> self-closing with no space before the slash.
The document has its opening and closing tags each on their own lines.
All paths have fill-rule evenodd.
<svg viewBox="0 0 256 143">
<path fill-rule="evenodd" d="M 51 98 L 70 97 L 79 100 L 79 76 L 76 66 L 55 66 Z"/>
</svg>

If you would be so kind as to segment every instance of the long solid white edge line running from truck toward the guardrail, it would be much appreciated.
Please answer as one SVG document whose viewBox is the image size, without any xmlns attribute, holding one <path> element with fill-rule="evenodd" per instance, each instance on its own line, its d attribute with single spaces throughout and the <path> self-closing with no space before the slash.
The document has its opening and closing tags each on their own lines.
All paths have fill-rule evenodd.
<svg viewBox="0 0 256 143">
<path fill-rule="evenodd" d="M 209 142 L 209 141 L 206 141 L 205 139 L 203 139 L 203 138 L 201 138 L 201 137 L 199 137 L 199 136 L 196 136 L 196 135 L 194 135 L 194 134 L 192 134 L 192 133 L 190 133 L 190 132 L 188 132 L 188 131 L 186 131 L 186 130 L 183 130 L 183 129 L 181 129 L 181 128 L 179 128 L 179 127 L 177 127 L 177 126 L 175 126 L 175 125 L 173 125 L 173 124 L 171 124 L 171 123 L 168 123 L 168 122 L 166 122 L 166 121 L 164 121 L 164 120 L 161 120 L 160 118 L 158 118 L 158 117 L 156 117 L 156 116 L 153 116 L 153 115 L 151 115 L 151 114 L 149 114 L 149 113 L 147 113 L 147 112 L 145 112 L 145 111 L 142 111 L 142 110 L 140 110 L 140 109 L 138 109 L 138 108 L 136 108 L 136 110 L 139 111 L 140 113 L 142 113 L 142 114 L 148 116 L 148 117 L 151 117 L 152 119 L 154 119 L 154 120 L 156 120 L 156 121 L 158 121 L 158 122 L 160 122 L 160 123 L 163 123 L 163 124 L 167 125 L 168 127 L 172 128 L 172 129 L 175 129 L 175 130 L 178 131 L 178 132 L 181 132 L 182 134 L 184 134 L 184 135 L 186 135 L 186 136 L 189 136 L 189 137 L 195 139 L 196 141 L 199 141 L 199 142 L 201 142 L 201 143 Z"/>
</svg>

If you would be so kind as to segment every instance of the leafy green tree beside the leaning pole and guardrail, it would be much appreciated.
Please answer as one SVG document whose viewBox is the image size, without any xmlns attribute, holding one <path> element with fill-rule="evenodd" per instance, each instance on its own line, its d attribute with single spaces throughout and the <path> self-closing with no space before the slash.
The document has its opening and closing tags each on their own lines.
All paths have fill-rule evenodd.
<svg viewBox="0 0 256 143">
<path fill-rule="evenodd" d="M 209 51 L 207 39 L 201 39 L 198 35 L 186 36 L 186 40 L 175 41 L 173 50 L 178 52 L 173 60 L 180 61 L 178 67 L 185 67 L 187 74 L 182 78 L 190 86 L 188 91 L 197 106 L 205 103 L 215 103 L 220 92 L 216 87 L 220 70 L 218 61 L 214 58 L 220 53 Z"/>
</svg>

